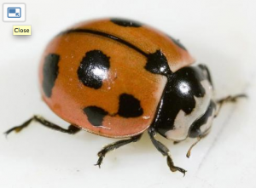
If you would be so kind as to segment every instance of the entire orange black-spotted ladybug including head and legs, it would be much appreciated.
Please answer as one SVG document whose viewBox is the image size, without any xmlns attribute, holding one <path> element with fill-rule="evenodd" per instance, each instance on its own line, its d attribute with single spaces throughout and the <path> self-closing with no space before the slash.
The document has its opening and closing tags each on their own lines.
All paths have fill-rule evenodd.
<svg viewBox="0 0 256 188">
<path fill-rule="evenodd" d="M 123 139 L 98 152 L 100 167 L 109 151 L 137 142 L 148 131 L 171 171 L 185 174 L 155 135 L 176 143 L 197 138 L 196 144 L 209 133 L 225 102 L 245 96 L 215 100 L 207 66 L 194 62 L 178 40 L 137 21 L 80 23 L 52 39 L 39 66 L 44 102 L 70 126 L 61 128 L 33 116 L 5 134 L 35 121 L 67 134 L 85 130 Z"/>
</svg>

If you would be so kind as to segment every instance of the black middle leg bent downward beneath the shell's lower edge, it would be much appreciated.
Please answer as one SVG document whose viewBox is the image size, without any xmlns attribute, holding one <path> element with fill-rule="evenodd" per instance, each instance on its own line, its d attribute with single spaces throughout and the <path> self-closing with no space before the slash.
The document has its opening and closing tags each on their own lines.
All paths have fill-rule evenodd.
<svg viewBox="0 0 256 188">
<path fill-rule="evenodd" d="M 115 149 L 118 149 L 120 146 L 130 144 L 131 142 L 137 142 L 138 140 L 141 139 L 142 135 L 143 134 L 139 134 L 137 136 L 131 137 L 131 139 L 129 139 L 129 140 L 119 140 L 119 141 L 113 142 L 110 145 L 104 146 L 102 148 L 102 150 L 98 152 L 99 159 L 98 159 L 98 161 L 96 162 L 95 165 L 98 165 L 99 168 L 101 168 L 101 164 L 102 164 L 103 158 L 106 156 L 106 154 L 109 151 L 113 151 Z"/>
</svg>

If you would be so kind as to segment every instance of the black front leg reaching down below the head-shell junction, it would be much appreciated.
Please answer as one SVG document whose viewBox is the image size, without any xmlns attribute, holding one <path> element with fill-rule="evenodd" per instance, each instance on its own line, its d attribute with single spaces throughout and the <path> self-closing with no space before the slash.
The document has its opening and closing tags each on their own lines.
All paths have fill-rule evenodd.
<svg viewBox="0 0 256 188">
<path fill-rule="evenodd" d="M 169 168 L 171 169 L 172 172 L 176 172 L 176 171 L 179 171 L 181 172 L 183 175 L 186 174 L 186 170 L 184 170 L 183 168 L 179 168 L 179 167 L 176 167 L 174 166 L 174 163 L 172 161 L 172 157 L 171 157 L 171 153 L 170 151 L 168 150 L 168 148 L 166 147 L 166 145 L 163 145 L 162 143 L 160 143 L 160 141 L 158 140 L 155 140 L 154 137 L 156 135 L 156 132 L 154 130 L 153 127 L 150 127 L 148 128 L 148 134 L 150 136 L 150 139 L 153 143 L 153 145 L 155 146 L 155 148 L 160 151 L 160 153 L 163 155 L 163 156 L 166 156 L 167 157 L 167 164 L 169 166 Z"/>
</svg>

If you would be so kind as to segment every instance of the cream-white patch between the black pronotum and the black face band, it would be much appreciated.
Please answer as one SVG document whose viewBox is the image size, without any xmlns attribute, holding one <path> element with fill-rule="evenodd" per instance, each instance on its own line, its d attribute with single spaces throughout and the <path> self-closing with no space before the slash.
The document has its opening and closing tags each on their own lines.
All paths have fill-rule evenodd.
<svg viewBox="0 0 256 188">
<path fill-rule="evenodd" d="M 169 140 L 185 140 L 189 134 L 189 128 L 196 119 L 201 117 L 206 111 L 207 107 L 212 100 L 212 85 L 208 80 L 201 81 L 201 85 L 206 90 L 203 97 L 195 97 L 195 109 L 189 114 L 184 111 L 179 111 L 174 121 L 174 128 L 166 131 L 166 138 Z M 181 86 L 183 89 L 186 86 Z M 206 127 L 207 128 L 207 127 Z"/>
</svg>

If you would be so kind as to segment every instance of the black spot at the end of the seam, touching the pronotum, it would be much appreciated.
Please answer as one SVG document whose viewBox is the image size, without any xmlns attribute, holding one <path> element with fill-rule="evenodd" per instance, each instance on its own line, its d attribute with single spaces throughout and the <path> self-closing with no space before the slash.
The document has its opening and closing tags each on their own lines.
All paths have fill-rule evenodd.
<svg viewBox="0 0 256 188">
<path fill-rule="evenodd" d="M 148 54 L 145 69 L 154 74 L 160 74 L 166 77 L 172 74 L 166 56 L 160 50 L 156 50 L 153 54 Z"/>
</svg>

